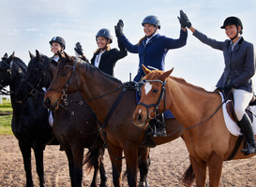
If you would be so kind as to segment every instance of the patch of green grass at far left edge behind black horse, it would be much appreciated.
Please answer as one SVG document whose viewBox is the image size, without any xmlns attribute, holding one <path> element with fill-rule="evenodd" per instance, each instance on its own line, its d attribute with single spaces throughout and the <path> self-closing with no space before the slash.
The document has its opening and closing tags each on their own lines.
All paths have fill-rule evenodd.
<svg viewBox="0 0 256 187">
<path fill-rule="evenodd" d="M 3 105 L 0 105 L 0 136 L 13 135 L 11 131 L 12 108 L 10 100 L 3 99 Z"/>
</svg>

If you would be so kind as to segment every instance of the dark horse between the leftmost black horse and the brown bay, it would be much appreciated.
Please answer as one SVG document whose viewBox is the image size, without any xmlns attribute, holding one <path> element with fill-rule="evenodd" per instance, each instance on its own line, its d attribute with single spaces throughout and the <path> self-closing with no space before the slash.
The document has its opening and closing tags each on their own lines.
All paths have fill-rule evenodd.
<svg viewBox="0 0 256 187">
<path fill-rule="evenodd" d="M 30 58 L 27 71 L 16 91 L 16 98 L 20 102 L 25 102 L 30 97 L 36 99 L 38 95 L 43 96 L 45 94 L 43 88 L 47 89 L 50 86 L 54 69 L 58 64 L 52 58 L 39 54 L 38 50 L 36 56 L 30 53 Z M 85 154 L 88 169 L 95 168 L 91 187 L 97 186 L 98 170 L 100 186 L 106 186 L 103 142 L 98 148 L 91 149 L 98 136 L 96 117 L 80 93 L 69 94 L 65 102 L 65 104 L 62 102 L 62 107 L 53 114 L 53 133 L 68 157 L 71 186 L 82 186 L 83 148 L 89 149 Z M 44 108 L 42 100 L 38 101 L 38 107 Z"/>
</svg>

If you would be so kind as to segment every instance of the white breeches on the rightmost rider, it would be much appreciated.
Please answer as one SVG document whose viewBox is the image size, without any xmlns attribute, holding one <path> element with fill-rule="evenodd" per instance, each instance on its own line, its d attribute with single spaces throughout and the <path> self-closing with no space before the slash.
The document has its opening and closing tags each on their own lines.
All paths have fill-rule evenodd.
<svg viewBox="0 0 256 187">
<path fill-rule="evenodd" d="M 248 108 L 248 103 L 250 102 L 253 93 L 248 93 L 247 91 L 236 89 L 233 89 L 232 92 L 234 112 L 237 120 L 241 121 L 246 112 L 246 108 Z"/>
</svg>

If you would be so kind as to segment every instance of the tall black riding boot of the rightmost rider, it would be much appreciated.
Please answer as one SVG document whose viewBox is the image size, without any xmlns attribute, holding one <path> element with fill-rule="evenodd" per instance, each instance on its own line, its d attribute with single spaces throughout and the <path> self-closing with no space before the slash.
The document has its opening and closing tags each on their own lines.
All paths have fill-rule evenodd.
<svg viewBox="0 0 256 187">
<path fill-rule="evenodd" d="M 248 145 L 248 148 L 243 149 L 241 152 L 243 152 L 244 155 L 256 153 L 256 142 L 252 131 L 251 122 L 247 114 L 244 114 L 242 120 L 238 122 L 238 125 L 241 128 L 241 132 L 243 133 Z"/>
</svg>

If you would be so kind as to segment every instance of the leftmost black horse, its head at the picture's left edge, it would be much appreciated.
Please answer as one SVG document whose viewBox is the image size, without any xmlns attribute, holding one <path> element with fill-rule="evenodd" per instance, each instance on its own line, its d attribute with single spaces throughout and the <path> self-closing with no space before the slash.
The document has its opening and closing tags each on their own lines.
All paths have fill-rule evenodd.
<svg viewBox="0 0 256 187">
<path fill-rule="evenodd" d="M 9 86 L 11 106 L 13 109 L 11 129 L 18 139 L 23 154 L 23 165 L 26 174 L 26 186 L 34 186 L 31 173 L 31 149 L 34 150 L 40 186 L 44 186 L 43 151 L 45 145 L 59 145 L 53 134 L 53 128 L 47 124 L 47 109 L 38 108 L 38 102 L 28 98 L 23 104 L 16 102 L 15 92 L 24 78 L 27 66 L 14 56 L 6 53 L 0 62 L 0 90 L 7 92 Z M 38 99 L 42 101 L 43 95 Z"/>
</svg>

